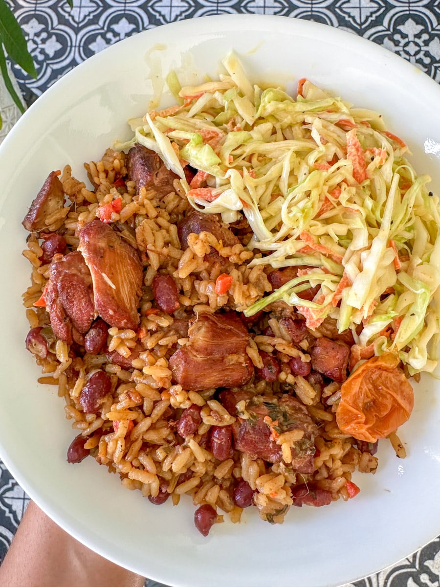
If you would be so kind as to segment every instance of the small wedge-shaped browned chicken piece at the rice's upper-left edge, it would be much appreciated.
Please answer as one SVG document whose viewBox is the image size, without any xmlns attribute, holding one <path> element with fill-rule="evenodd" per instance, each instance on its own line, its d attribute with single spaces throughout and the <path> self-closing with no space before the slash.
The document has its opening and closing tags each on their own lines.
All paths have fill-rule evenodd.
<svg viewBox="0 0 440 587">
<path fill-rule="evenodd" d="M 63 185 L 57 177 L 56 171 L 51 171 L 33 200 L 28 214 L 22 222 L 29 232 L 39 232 L 47 228 L 46 218 L 57 210 L 61 210 L 65 203 Z"/>
</svg>

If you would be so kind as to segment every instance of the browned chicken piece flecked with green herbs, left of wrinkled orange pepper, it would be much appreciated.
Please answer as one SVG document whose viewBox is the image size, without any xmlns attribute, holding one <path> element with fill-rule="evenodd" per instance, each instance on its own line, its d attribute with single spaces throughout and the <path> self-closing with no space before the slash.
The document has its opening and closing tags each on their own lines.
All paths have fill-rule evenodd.
<svg viewBox="0 0 440 587">
<path fill-rule="evenodd" d="M 291 444 L 290 466 L 299 473 L 312 473 L 316 450 L 314 439 L 318 429 L 302 403 L 287 394 L 280 400 L 271 396 L 255 396 L 246 403 L 246 412 L 248 419 L 232 424 L 235 448 L 252 458 L 279 463 L 282 460 L 281 446 L 274 440 L 269 423 L 278 434 L 302 430 L 303 437 Z"/>
</svg>

